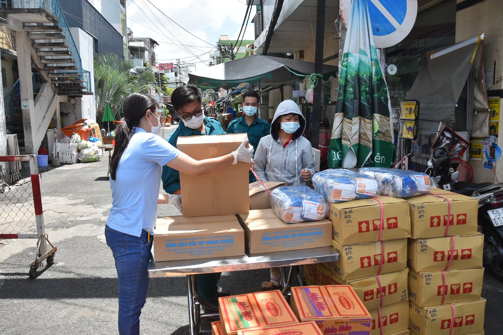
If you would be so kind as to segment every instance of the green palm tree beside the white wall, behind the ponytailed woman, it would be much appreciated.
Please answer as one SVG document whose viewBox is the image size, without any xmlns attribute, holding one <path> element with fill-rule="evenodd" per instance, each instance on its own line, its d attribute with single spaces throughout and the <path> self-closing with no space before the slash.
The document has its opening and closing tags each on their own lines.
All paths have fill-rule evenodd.
<svg viewBox="0 0 503 335">
<path fill-rule="evenodd" d="M 117 118 L 117 113 L 126 96 L 137 91 L 147 92 L 147 84 L 154 82 L 154 75 L 151 71 L 134 76 L 129 71 L 132 68 L 134 68 L 132 61 L 119 58 L 114 53 L 95 57 L 95 97 L 98 120 L 101 120 L 103 116 L 107 101 L 110 102 L 114 116 Z"/>
</svg>

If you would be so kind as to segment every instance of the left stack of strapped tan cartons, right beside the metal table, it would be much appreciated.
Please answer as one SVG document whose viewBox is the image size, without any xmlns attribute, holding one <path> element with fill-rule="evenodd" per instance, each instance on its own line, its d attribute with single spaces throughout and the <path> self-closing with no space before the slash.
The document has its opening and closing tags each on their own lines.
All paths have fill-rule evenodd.
<svg viewBox="0 0 503 335">
<path fill-rule="evenodd" d="M 372 334 L 407 334 L 407 202 L 376 197 L 331 203 L 329 219 L 339 261 L 305 266 L 307 283 L 351 285 L 372 315 Z"/>
</svg>

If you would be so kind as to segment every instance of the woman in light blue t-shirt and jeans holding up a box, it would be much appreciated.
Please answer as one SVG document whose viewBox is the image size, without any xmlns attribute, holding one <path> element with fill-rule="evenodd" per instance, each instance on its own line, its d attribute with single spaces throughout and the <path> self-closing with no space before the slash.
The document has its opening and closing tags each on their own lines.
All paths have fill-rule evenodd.
<svg viewBox="0 0 503 335">
<path fill-rule="evenodd" d="M 116 131 L 111 162 L 112 208 L 105 226 L 107 245 L 115 258 L 119 281 L 119 333 L 138 334 L 139 316 L 148 287 L 147 263 L 157 218 L 157 203 L 181 209 L 180 195 L 159 194 L 162 166 L 200 175 L 237 161 L 251 163 L 253 148 L 246 142 L 231 154 L 197 161 L 157 136 L 159 104 L 150 95 L 126 97 L 125 122 Z"/>
</svg>

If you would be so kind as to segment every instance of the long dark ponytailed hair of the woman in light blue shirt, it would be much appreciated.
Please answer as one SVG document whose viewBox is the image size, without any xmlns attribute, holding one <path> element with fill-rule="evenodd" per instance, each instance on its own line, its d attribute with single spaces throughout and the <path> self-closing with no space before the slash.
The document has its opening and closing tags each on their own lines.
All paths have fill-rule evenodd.
<svg viewBox="0 0 503 335">
<path fill-rule="evenodd" d="M 157 101 L 143 92 L 134 92 L 124 99 L 122 105 L 124 122 L 115 131 L 115 148 L 110 162 L 110 177 L 112 180 L 115 180 L 119 161 L 135 133 L 135 127 L 139 126 L 140 120 L 145 116 L 148 109 L 157 108 Z"/>
</svg>

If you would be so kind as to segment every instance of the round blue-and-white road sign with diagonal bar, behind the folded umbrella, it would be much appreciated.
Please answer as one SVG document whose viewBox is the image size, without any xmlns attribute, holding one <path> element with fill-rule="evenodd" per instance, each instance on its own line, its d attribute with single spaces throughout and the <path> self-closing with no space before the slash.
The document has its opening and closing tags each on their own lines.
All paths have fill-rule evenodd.
<svg viewBox="0 0 503 335">
<path fill-rule="evenodd" d="M 353 0 L 340 0 L 341 18 L 348 27 Z M 401 42 L 412 30 L 417 0 L 367 0 L 376 48 Z"/>
</svg>

